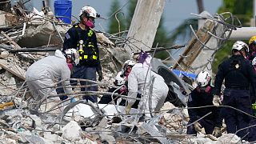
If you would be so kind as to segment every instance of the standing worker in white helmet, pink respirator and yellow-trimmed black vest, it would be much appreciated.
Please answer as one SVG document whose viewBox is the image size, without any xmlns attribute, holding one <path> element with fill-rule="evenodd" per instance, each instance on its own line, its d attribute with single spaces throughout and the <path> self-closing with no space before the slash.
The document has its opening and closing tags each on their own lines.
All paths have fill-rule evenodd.
<svg viewBox="0 0 256 144">
<path fill-rule="evenodd" d="M 102 81 L 102 66 L 99 60 L 99 51 L 94 28 L 94 18 L 98 18 L 96 10 L 91 6 L 84 6 L 80 10 L 80 22 L 75 24 L 65 34 L 63 50 L 75 48 L 79 53 L 79 64 L 74 66 L 74 73 L 71 78 L 82 78 L 96 81 L 96 72 L 98 81 Z M 72 82 L 76 84 L 77 82 Z M 81 86 L 94 84 L 93 82 L 80 82 Z M 97 91 L 98 86 L 81 88 L 82 91 Z M 97 95 L 84 96 L 84 99 L 91 102 L 98 102 Z"/>
</svg>

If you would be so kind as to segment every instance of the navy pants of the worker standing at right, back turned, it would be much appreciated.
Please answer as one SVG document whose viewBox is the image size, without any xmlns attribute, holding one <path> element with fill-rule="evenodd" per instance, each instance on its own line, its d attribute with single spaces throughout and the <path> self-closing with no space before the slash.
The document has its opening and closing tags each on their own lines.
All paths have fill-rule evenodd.
<svg viewBox="0 0 256 144">
<path fill-rule="evenodd" d="M 223 97 L 224 106 L 232 106 L 238 110 L 242 110 L 247 114 L 252 114 L 250 109 L 250 90 L 233 90 L 226 89 L 224 90 Z M 249 126 L 250 116 L 242 114 L 238 110 L 234 110 L 228 107 L 223 107 L 221 110 L 222 117 L 226 123 L 227 133 L 235 134 L 238 130 L 238 137 L 246 139 L 246 134 L 248 129 L 240 130 Z M 245 137 L 245 138 L 244 138 Z"/>
</svg>

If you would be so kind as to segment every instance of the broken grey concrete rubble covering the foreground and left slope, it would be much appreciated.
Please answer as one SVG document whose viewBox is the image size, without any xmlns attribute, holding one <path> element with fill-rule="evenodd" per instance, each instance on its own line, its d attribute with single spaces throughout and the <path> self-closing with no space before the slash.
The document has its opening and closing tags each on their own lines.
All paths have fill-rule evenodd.
<svg viewBox="0 0 256 144">
<path fill-rule="evenodd" d="M 30 19 L 30 26 L 26 26 L 25 30 L 22 27 L 17 30 L 24 34 L 14 34 L 11 38 L 15 39 L 11 41 L 23 48 L 31 48 L 30 50 L 60 46 L 69 26 L 54 23 L 51 13 L 44 15 L 36 10 L 34 13 L 38 15 L 27 15 L 23 18 Z M 3 13 L 0 13 L 2 18 L 1 14 Z M 0 21 L 6 27 L 22 26 L 22 18 L 19 21 L 10 21 L 9 19 L 15 18 L 15 15 L 10 14 L 6 14 L 5 18 L 4 22 Z M 9 33 L 6 32 L 11 35 Z M 220 138 L 206 134 L 187 135 L 186 124 L 189 116 L 186 107 L 177 107 L 170 102 L 162 106 L 162 112 L 156 117 L 145 120 L 136 120 L 136 114 L 124 115 L 123 107 L 117 111 L 114 106 L 105 105 L 106 108 L 101 110 L 104 106 L 94 106 L 82 100 L 70 108 L 47 103 L 42 106 L 47 106 L 47 110 L 30 111 L 31 96 L 26 89 L 24 75 L 34 61 L 48 56 L 53 50 L 22 53 L 32 56 L 28 58 L 12 51 L 15 49 L 14 42 L 6 40 L 3 35 L 0 37 L 3 39 L 0 42 L 0 105 L 13 102 L 0 109 L 2 143 L 241 143 L 235 134 L 225 132 Z M 115 74 L 126 60 L 123 55 L 128 54 L 108 38 L 110 35 L 98 33 L 97 37 L 104 74 L 102 82 L 98 82 L 98 95 L 102 96 L 113 86 Z M 57 107 L 58 110 L 53 111 Z M 87 115 L 81 114 L 82 109 Z"/>
</svg>

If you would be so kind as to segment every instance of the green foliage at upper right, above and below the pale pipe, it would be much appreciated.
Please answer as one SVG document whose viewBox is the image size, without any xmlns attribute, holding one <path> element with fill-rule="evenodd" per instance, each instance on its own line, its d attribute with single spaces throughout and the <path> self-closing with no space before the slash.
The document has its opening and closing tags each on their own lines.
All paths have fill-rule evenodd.
<svg viewBox="0 0 256 144">
<path fill-rule="evenodd" d="M 222 6 L 218 9 L 218 14 L 223 12 L 230 12 L 238 17 L 242 22 L 242 26 L 248 26 L 250 23 L 250 18 L 253 14 L 253 1 L 251 0 L 223 0 Z M 216 74 L 218 70 L 218 65 L 226 58 L 230 57 L 231 48 L 235 41 L 228 41 L 215 55 L 213 62 L 213 72 Z M 246 41 L 244 41 L 246 42 Z M 248 43 L 248 42 L 246 42 Z"/>
</svg>

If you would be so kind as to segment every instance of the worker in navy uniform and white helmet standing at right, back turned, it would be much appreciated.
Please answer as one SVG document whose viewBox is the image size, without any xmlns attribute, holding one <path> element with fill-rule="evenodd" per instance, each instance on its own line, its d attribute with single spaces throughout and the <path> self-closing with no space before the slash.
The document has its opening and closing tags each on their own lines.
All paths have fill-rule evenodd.
<svg viewBox="0 0 256 144">
<path fill-rule="evenodd" d="M 246 59 L 249 51 L 245 42 L 234 42 L 232 56 L 218 66 L 214 82 L 214 106 L 222 104 L 219 95 L 222 82 L 225 79 L 226 89 L 223 92 L 223 105 L 233 106 L 247 114 L 251 114 L 250 85 L 255 89 L 255 73 L 250 61 Z M 227 133 L 236 133 L 238 130 L 248 126 L 250 117 L 238 110 L 222 107 L 221 114 L 226 122 Z M 240 130 L 237 135 L 240 138 L 246 136 L 246 130 Z M 245 138 L 246 139 L 246 138 Z"/>
</svg>

